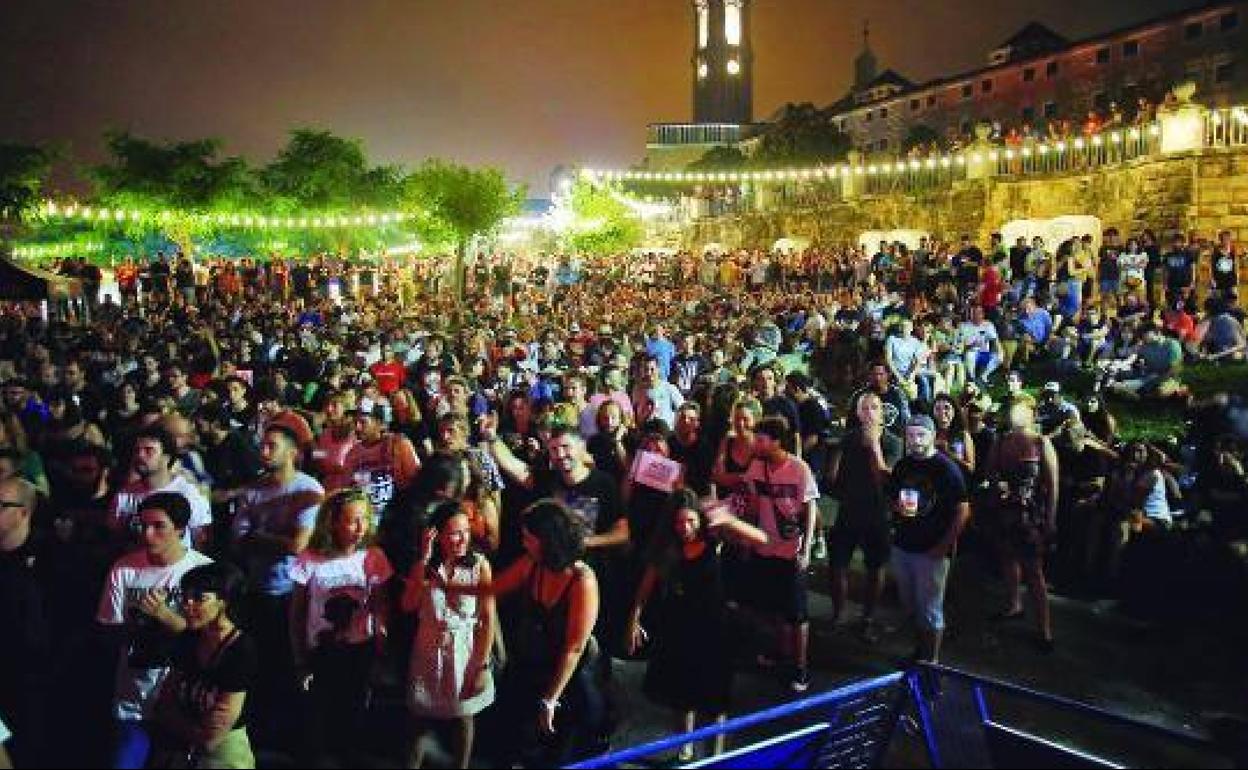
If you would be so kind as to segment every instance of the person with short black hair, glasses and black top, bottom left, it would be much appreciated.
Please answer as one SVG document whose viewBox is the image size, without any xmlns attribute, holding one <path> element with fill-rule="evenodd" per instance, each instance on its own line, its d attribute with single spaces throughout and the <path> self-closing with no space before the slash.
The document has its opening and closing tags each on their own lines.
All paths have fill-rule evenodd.
<svg viewBox="0 0 1248 770">
<path fill-rule="evenodd" d="M 181 580 L 186 630 L 151 706 L 151 768 L 255 768 L 247 694 L 260 673 L 256 643 L 235 625 L 243 588 L 237 568 L 216 562 Z"/>
</svg>

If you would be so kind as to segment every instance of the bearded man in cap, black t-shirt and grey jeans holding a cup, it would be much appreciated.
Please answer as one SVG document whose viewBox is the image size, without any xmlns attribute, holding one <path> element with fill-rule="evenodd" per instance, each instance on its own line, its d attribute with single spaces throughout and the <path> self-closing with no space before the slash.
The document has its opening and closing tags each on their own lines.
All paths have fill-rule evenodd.
<svg viewBox="0 0 1248 770">
<path fill-rule="evenodd" d="M 892 469 L 890 490 L 897 594 L 919 630 L 916 658 L 935 663 L 945 633 L 950 555 L 971 505 L 965 477 L 936 451 L 936 426 L 926 414 L 906 423 L 906 457 Z"/>
</svg>

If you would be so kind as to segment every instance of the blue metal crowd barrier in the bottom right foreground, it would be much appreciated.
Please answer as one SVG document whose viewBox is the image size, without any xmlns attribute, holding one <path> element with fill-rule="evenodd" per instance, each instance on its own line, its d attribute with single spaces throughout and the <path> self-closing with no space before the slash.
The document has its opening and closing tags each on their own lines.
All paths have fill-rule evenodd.
<svg viewBox="0 0 1248 770">
<path fill-rule="evenodd" d="M 919 728 L 932 768 L 1021 766 L 1020 763 L 1063 768 L 1118 768 L 1118 761 L 1025 731 L 997 719 L 988 694 L 1005 695 L 1046 706 L 1060 715 L 1078 718 L 1106 743 L 1111 753 L 1122 749 L 1139 755 L 1153 739 L 1157 750 L 1139 756 L 1141 765 L 1157 765 L 1159 755 L 1178 748 L 1194 750 L 1197 766 L 1223 758 L 1204 735 L 1176 730 L 1107 709 L 1041 693 L 1007 681 L 978 676 L 936 664 L 920 664 L 905 673 L 864 680 L 827 693 L 740 716 L 720 725 L 671 735 L 640 746 L 592 759 L 573 768 L 619 768 L 654 763 L 688 744 L 771 728 L 770 735 L 748 741 L 728 754 L 686 765 L 689 768 L 877 768 L 890 750 L 904 714 Z M 1028 716 L 1031 716 L 1028 711 Z M 1127 733 L 1113 741 L 1104 728 Z M 1157 754 L 1161 751 L 1162 754 Z"/>
</svg>

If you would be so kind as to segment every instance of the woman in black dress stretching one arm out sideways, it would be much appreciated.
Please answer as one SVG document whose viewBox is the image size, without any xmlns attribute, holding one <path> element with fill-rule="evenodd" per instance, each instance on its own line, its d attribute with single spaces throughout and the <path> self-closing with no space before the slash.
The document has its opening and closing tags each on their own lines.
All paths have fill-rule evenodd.
<svg viewBox="0 0 1248 770">
<path fill-rule="evenodd" d="M 704 512 L 696 495 L 679 490 L 673 499 L 673 540 L 655 555 L 638 588 L 629 615 L 633 651 L 648 640 L 641 628 L 646 603 L 658 602 L 650 663 L 644 690 L 656 703 L 681 714 L 681 730 L 695 729 L 698 714 L 723 721 L 733 690 L 733 648 L 726 644 L 726 597 L 720 545 L 731 542 L 763 545 L 768 535 L 720 505 Z M 724 750 L 724 736 L 715 754 Z M 694 745 L 680 750 L 680 761 L 694 756 Z"/>
</svg>

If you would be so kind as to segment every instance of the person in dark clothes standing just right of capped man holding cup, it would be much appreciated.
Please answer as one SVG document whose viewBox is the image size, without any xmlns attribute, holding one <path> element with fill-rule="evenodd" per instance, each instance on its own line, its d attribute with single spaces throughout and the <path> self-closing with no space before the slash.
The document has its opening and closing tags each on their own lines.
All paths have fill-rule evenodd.
<svg viewBox="0 0 1248 770">
<path fill-rule="evenodd" d="M 1057 452 L 1036 427 L 1036 412 L 1030 404 L 1011 407 L 1007 432 L 992 448 L 985 475 L 995 484 L 997 545 L 1008 603 L 997 619 L 1023 615 L 1018 589 L 1026 577 L 1036 614 L 1036 643 L 1042 651 L 1052 651 L 1045 554 L 1057 535 L 1058 464 Z"/>
</svg>

